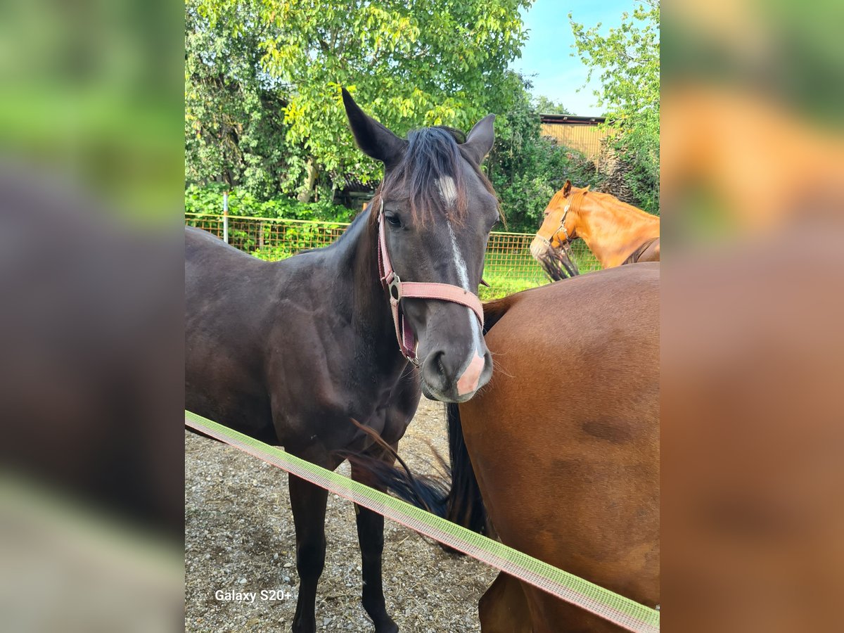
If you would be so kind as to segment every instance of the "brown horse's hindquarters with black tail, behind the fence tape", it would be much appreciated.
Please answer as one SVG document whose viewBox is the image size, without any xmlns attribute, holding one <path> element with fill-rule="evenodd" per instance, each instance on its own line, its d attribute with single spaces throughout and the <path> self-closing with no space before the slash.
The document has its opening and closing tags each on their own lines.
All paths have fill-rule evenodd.
<svg viewBox="0 0 844 633">
<path fill-rule="evenodd" d="M 477 531 L 485 506 L 505 544 L 655 607 L 658 265 L 526 290 L 486 304 L 484 315 L 495 375 L 447 407 L 451 490 L 408 485 L 396 469 L 379 479 Z M 479 615 L 484 633 L 619 630 L 503 573 Z"/>
</svg>

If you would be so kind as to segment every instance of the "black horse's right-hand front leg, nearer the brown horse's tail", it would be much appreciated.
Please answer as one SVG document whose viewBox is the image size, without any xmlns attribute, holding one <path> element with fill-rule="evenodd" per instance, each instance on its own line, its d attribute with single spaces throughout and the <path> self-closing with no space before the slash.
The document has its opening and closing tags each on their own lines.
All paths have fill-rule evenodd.
<svg viewBox="0 0 844 633">
<path fill-rule="evenodd" d="M 384 462 L 395 462 L 392 454 L 373 448 L 367 452 L 371 457 L 376 457 Z M 367 484 L 377 490 L 384 490 L 384 487 L 372 480 L 371 475 L 365 469 L 355 468 L 352 465 L 352 479 Z M 375 623 L 376 633 L 396 633 L 398 626 L 387 615 L 387 605 L 384 603 L 384 588 L 381 581 L 381 553 L 384 550 L 384 517 L 377 512 L 367 510 L 357 504 L 354 506 L 354 513 L 358 523 L 358 541 L 360 542 L 360 557 L 363 560 L 363 605 L 366 613 L 369 614 Z"/>
</svg>

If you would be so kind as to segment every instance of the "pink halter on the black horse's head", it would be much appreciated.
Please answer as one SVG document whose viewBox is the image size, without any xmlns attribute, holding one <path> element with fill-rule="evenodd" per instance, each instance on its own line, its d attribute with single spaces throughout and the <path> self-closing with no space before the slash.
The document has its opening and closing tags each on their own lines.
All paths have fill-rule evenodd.
<svg viewBox="0 0 844 633">
<path fill-rule="evenodd" d="M 419 360 L 416 358 L 417 341 L 413 329 L 404 317 L 403 311 L 400 310 L 399 302 L 402 299 L 436 299 L 459 303 L 473 311 L 475 316 L 478 317 L 481 327 L 484 327 L 484 306 L 481 305 L 478 295 L 473 295 L 468 290 L 452 284 L 402 281 L 398 278 L 398 274 L 392 269 L 390 254 L 387 252 L 387 237 L 384 235 L 383 199 L 381 199 L 381 208 L 378 209 L 378 273 L 381 275 L 381 282 L 390 295 L 392 322 L 396 326 L 398 348 L 402 350 L 404 357 L 414 365 L 419 365 Z"/>
</svg>

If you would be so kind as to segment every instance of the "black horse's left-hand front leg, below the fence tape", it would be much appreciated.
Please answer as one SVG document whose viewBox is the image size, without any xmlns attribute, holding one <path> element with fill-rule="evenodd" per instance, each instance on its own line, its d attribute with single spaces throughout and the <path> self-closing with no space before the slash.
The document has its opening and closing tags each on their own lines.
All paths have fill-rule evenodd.
<svg viewBox="0 0 844 633">
<path fill-rule="evenodd" d="M 328 491 L 293 475 L 289 478 L 290 506 L 296 527 L 296 570 L 299 598 L 293 633 L 317 630 L 317 582 L 325 565 L 325 506 Z"/>
</svg>

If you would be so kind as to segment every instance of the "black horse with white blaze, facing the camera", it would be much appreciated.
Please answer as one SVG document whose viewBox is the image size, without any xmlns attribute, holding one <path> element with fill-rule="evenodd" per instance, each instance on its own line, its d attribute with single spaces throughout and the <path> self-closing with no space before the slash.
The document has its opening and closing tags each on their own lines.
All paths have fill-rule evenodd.
<svg viewBox="0 0 844 633">
<path fill-rule="evenodd" d="M 343 98 L 355 140 L 383 162 L 385 175 L 374 203 L 338 241 L 262 262 L 202 230 L 185 235 L 186 408 L 331 469 L 343 451 L 392 463 L 354 421 L 397 446 L 420 386 L 430 397 L 464 402 L 492 374 L 478 318 L 453 300 L 401 300 L 398 318 L 415 343 L 408 355 L 416 360 L 408 362 L 397 343 L 392 287 L 381 279 L 379 228 L 401 279 L 474 293 L 499 217 L 479 170 L 492 147 L 493 116 L 464 143 L 442 127 L 404 140 L 345 90 Z M 359 468 L 352 476 L 369 483 Z M 289 491 L 300 577 L 293 630 L 300 633 L 316 630 L 327 492 L 295 477 Z M 356 510 L 363 605 L 376 631 L 396 631 L 381 585 L 384 520 Z"/>
</svg>

